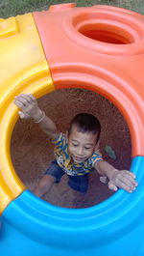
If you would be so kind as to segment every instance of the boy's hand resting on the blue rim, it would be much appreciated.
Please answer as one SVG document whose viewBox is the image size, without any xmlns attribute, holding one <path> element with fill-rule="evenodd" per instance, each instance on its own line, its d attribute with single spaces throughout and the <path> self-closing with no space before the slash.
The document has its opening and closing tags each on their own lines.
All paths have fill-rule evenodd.
<svg viewBox="0 0 144 256">
<path fill-rule="evenodd" d="M 108 182 L 108 188 L 116 191 L 118 186 L 132 193 L 138 185 L 134 179 L 135 175 L 130 171 L 113 169 Z"/>
</svg>

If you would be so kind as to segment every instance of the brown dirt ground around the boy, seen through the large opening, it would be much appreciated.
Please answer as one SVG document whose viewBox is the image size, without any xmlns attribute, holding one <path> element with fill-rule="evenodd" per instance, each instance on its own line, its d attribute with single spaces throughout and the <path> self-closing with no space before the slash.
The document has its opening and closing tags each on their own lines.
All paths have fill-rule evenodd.
<svg viewBox="0 0 144 256">
<path fill-rule="evenodd" d="M 110 101 L 91 91 L 73 88 L 48 94 L 39 99 L 38 104 L 63 132 L 77 113 L 87 112 L 97 116 L 102 125 L 100 148 L 104 159 L 116 168 L 130 168 L 132 147 L 129 128 Z M 116 159 L 107 155 L 106 145 L 115 152 Z M 31 120 L 18 120 L 12 133 L 12 163 L 28 189 L 34 189 L 53 158 L 53 145 L 38 125 Z M 60 207 L 87 208 L 106 200 L 112 193 L 94 172 L 89 176 L 89 188 L 85 195 L 69 188 L 64 175 L 60 184 L 54 185 L 43 199 Z"/>
</svg>

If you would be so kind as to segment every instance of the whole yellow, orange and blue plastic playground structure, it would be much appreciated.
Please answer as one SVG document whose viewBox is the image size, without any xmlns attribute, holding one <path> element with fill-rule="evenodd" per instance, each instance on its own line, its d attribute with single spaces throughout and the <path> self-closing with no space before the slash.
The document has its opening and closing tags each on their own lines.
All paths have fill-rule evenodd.
<svg viewBox="0 0 144 256">
<path fill-rule="evenodd" d="M 144 16 L 68 3 L 0 19 L 0 56 L 1 256 L 143 256 Z M 17 177 L 14 96 L 70 87 L 101 94 L 125 117 L 139 183 L 132 194 L 120 189 L 94 207 L 64 209 L 37 198 Z"/>
</svg>

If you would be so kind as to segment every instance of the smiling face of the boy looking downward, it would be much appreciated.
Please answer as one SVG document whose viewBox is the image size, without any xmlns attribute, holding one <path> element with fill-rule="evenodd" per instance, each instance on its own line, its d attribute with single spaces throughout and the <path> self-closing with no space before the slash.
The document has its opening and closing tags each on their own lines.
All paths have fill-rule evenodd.
<svg viewBox="0 0 144 256">
<path fill-rule="evenodd" d="M 97 134 L 81 132 L 75 125 L 71 128 L 68 136 L 68 151 L 75 162 L 84 162 L 84 160 L 92 156 L 96 145 Z"/>
</svg>

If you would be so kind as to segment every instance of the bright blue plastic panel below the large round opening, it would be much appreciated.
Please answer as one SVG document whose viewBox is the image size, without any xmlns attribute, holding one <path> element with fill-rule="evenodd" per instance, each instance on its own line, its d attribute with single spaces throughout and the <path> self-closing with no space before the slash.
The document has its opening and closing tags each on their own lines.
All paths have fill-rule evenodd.
<svg viewBox="0 0 144 256">
<path fill-rule="evenodd" d="M 2 255 L 143 256 L 143 156 L 132 159 L 131 170 L 139 183 L 132 194 L 120 189 L 87 209 L 59 208 L 23 192 L 3 213 Z"/>
</svg>

